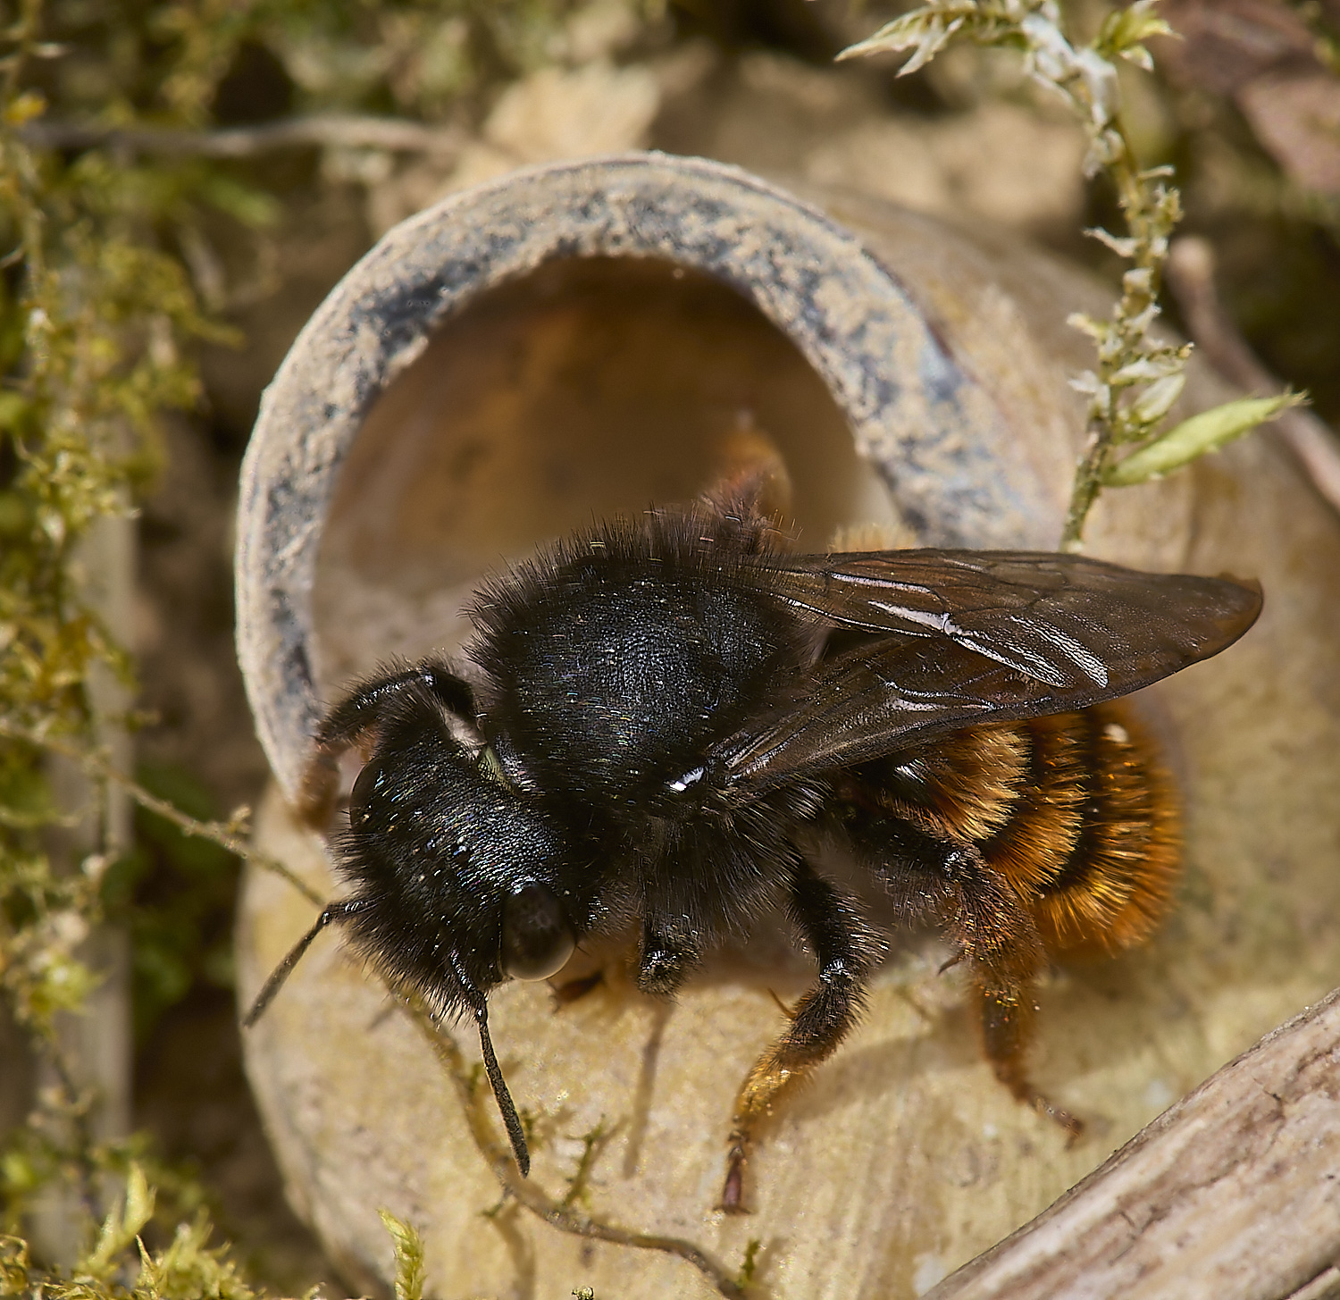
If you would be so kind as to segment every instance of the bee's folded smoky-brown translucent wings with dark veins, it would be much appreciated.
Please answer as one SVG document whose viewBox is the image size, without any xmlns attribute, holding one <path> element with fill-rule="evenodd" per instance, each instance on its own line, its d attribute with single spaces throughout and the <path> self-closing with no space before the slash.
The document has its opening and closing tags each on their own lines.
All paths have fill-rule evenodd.
<svg viewBox="0 0 1340 1300">
<path fill-rule="evenodd" d="M 1124 696 L 1218 654 L 1261 611 L 1260 588 L 1231 579 L 1026 551 L 769 558 L 753 580 L 871 639 L 718 748 L 728 780 L 749 785 Z"/>
</svg>

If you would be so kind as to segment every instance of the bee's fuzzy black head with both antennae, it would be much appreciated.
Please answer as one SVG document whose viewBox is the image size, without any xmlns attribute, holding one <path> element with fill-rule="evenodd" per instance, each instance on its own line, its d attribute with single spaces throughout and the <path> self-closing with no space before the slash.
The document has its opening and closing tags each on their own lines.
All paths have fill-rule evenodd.
<svg viewBox="0 0 1340 1300">
<path fill-rule="evenodd" d="M 343 922 L 354 945 L 434 1017 L 469 1015 L 523 1174 L 525 1136 L 488 1031 L 488 994 L 544 980 L 591 925 L 595 872 L 561 820 L 473 755 L 436 708 L 385 718 L 354 783 L 335 867 L 351 887 L 267 981 L 253 1024 L 312 939 Z"/>
</svg>

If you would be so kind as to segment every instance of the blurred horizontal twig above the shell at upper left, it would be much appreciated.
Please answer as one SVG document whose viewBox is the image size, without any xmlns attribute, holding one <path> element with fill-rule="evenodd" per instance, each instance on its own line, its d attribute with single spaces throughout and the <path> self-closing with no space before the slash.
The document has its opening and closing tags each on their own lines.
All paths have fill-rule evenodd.
<svg viewBox="0 0 1340 1300">
<path fill-rule="evenodd" d="M 255 158 L 277 149 L 336 146 L 385 149 L 391 153 L 454 154 L 462 133 L 450 126 L 425 126 L 403 118 L 322 113 L 285 118 L 260 126 L 234 126 L 218 131 L 185 131 L 170 127 L 113 127 L 78 122 L 29 122 L 19 138 L 35 149 L 99 149 L 126 153 L 169 154 L 193 158 Z"/>
</svg>

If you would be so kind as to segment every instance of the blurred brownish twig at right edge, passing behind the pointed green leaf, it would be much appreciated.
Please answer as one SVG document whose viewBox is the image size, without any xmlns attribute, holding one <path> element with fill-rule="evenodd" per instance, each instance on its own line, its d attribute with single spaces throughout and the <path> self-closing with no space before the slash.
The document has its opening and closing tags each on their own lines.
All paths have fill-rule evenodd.
<svg viewBox="0 0 1340 1300">
<path fill-rule="evenodd" d="M 1207 240 L 1187 235 L 1174 241 L 1167 281 L 1197 347 L 1225 379 L 1254 393 L 1284 391 L 1223 310 L 1214 284 L 1214 249 Z M 1340 511 L 1340 441 L 1335 433 L 1312 411 L 1297 407 L 1284 411 L 1274 428 L 1312 485 Z"/>
</svg>

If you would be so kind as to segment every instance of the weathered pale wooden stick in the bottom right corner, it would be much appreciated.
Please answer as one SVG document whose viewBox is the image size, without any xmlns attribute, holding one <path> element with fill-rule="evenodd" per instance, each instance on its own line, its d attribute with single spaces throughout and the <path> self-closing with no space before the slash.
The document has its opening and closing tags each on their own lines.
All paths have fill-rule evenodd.
<svg viewBox="0 0 1340 1300">
<path fill-rule="evenodd" d="M 1281 1300 L 1340 1257 L 1340 989 L 927 1300 Z M 1320 1285 L 1321 1291 L 1316 1291 Z"/>
</svg>

